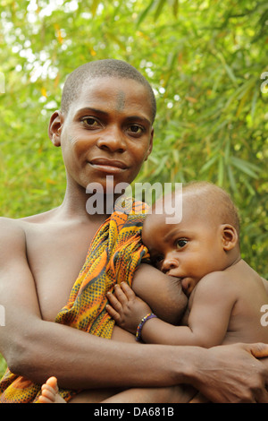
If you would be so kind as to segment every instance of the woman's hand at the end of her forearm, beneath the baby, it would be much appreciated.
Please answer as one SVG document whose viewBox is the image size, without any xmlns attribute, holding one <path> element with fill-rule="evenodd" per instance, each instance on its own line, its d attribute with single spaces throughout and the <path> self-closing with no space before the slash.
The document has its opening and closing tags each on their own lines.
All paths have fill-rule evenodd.
<svg viewBox="0 0 268 421">
<path fill-rule="evenodd" d="M 199 351 L 190 384 L 208 400 L 268 403 L 268 345 L 239 343 Z"/>
</svg>

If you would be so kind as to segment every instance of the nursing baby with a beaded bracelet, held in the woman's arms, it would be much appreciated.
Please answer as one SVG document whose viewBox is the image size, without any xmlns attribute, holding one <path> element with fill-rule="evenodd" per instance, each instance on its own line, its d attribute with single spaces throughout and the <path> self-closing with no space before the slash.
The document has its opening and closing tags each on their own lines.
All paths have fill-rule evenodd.
<svg viewBox="0 0 268 421">
<path fill-rule="evenodd" d="M 164 201 L 172 201 L 174 194 L 180 193 Z M 158 318 L 126 283 L 108 295 L 107 312 L 145 343 L 204 348 L 268 343 L 268 329 L 261 323 L 261 308 L 268 303 L 267 281 L 241 259 L 239 216 L 230 196 L 215 185 L 196 182 L 184 186 L 181 200 L 180 223 L 166 223 L 167 215 L 158 214 L 154 206 L 142 231 L 152 263 L 181 282 L 188 296 L 180 326 Z M 163 299 L 157 288 L 150 295 L 150 302 Z M 56 379 L 49 379 L 43 386 L 44 400 L 51 393 L 50 401 L 54 401 L 56 388 Z M 122 391 L 104 402 L 128 401 L 129 393 Z"/>
</svg>

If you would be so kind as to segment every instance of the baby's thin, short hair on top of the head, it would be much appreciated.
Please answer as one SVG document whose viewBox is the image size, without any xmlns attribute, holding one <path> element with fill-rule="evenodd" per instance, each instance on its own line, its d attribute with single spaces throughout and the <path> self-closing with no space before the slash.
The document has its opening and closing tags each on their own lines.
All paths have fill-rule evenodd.
<svg viewBox="0 0 268 421">
<path fill-rule="evenodd" d="M 194 181 L 182 186 L 183 193 L 197 194 L 197 207 L 205 205 L 207 210 L 219 214 L 222 224 L 230 224 L 240 232 L 239 211 L 230 194 L 221 187 L 206 181 Z"/>
</svg>

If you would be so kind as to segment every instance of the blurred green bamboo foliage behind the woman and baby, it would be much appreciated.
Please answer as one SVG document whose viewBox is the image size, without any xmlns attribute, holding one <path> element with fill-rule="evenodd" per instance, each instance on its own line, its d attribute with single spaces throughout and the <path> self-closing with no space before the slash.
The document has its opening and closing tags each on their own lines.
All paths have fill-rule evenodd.
<svg viewBox="0 0 268 421">
<path fill-rule="evenodd" d="M 266 0 L 1 0 L 0 13 L 0 216 L 62 202 L 47 124 L 64 79 L 88 61 L 123 59 L 158 104 L 137 181 L 223 186 L 239 208 L 242 256 L 268 279 Z"/>
</svg>

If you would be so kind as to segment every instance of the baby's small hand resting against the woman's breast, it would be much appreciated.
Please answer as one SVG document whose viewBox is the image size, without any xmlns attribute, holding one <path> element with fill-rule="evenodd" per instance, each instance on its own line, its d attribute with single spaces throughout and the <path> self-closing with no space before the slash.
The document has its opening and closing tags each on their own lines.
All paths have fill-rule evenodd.
<svg viewBox="0 0 268 421">
<path fill-rule="evenodd" d="M 151 313 L 150 307 L 125 282 L 115 285 L 114 294 L 108 293 L 107 298 L 107 312 L 122 329 L 134 335 L 141 319 Z"/>
</svg>

